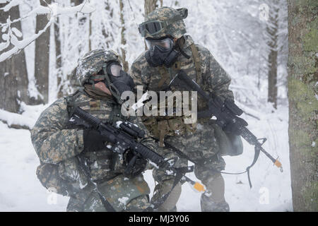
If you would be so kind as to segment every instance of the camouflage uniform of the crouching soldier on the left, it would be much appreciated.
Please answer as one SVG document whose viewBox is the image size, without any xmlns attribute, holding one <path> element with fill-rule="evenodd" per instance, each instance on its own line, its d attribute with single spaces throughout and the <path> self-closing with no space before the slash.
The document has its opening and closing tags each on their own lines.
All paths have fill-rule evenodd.
<svg viewBox="0 0 318 226">
<path fill-rule="evenodd" d="M 83 151 L 83 128 L 72 124 L 66 100 L 70 99 L 62 97 L 45 109 L 31 131 L 40 158 L 37 177 L 42 185 L 70 197 L 67 211 L 105 211 L 99 192 L 116 211 L 148 208 L 150 189 L 142 174 L 134 179 L 125 178 L 124 160 L 108 149 L 107 144 L 102 150 Z M 100 98 L 86 92 L 76 93 L 73 105 L 113 124 L 126 119 L 120 114 L 120 105 L 105 93 Z M 130 121 L 143 128 L 136 118 Z M 143 144 L 155 148 L 151 143 Z"/>
</svg>

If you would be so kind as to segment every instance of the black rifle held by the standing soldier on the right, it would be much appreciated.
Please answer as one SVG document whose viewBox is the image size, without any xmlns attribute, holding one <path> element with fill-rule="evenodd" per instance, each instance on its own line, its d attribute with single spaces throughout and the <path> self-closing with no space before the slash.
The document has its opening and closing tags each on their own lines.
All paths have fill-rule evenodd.
<svg viewBox="0 0 318 226">
<path fill-rule="evenodd" d="M 216 117 L 216 124 L 220 126 L 220 128 L 223 129 L 223 131 L 227 131 L 230 133 L 234 133 L 237 136 L 242 136 L 242 138 L 245 139 L 250 145 L 254 146 L 255 155 L 254 160 L 252 162 L 252 165 L 247 167 L 247 174 L 249 177 L 249 169 L 255 164 L 257 161 L 257 158 L 259 157 L 259 152 L 261 151 L 264 153 L 269 159 L 273 162 L 276 167 L 279 167 L 281 171 L 283 171 L 283 167 L 281 165 L 281 162 L 279 162 L 277 159 L 273 158 L 269 153 L 264 150 L 261 146 L 266 141 L 266 138 L 258 139 L 254 134 L 249 131 L 249 129 L 246 128 L 247 121 L 244 119 L 241 119 L 240 116 L 243 111 L 240 109 L 240 107 L 237 107 L 235 105 L 233 100 L 225 99 L 223 101 L 220 97 L 216 96 L 213 93 L 210 93 L 208 95 L 202 88 L 194 82 L 189 76 L 187 76 L 187 73 L 180 70 L 177 73 L 177 76 L 172 79 L 169 86 L 181 86 L 183 88 L 186 88 L 187 90 L 194 90 L 201 97 L 206 100 L 208 109 L 204 110 L 203 112 L 198 112 L 198 117 Z M 261 142 L 259 142 L 261 140 Z M 252 187 L 252 184 L 249 179 L 249 186 Z"/>
</svg>

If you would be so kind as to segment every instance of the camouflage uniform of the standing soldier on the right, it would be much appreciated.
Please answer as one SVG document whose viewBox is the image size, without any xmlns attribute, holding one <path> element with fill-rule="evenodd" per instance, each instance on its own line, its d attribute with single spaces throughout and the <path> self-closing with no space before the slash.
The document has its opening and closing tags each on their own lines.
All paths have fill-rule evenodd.
<svg viewBox="0 0 318 226">
<path fill-rule="evenodd" d="M 184 8 L 179 12 L 184 12 Z M 165 21 L 175 15 L 176 10 L 173 8 L 163 7 L 150 13 L 146 20 L 162 20 Z M 131 66 L 131 77 L 134 78 L 135 85 L 143 85 L 143 90 L 160 91 L 165 90 L 172 78 L 175 77 L 177 71 L 184 70 L 187 75 L 198 83 L 204 90 L 214 93 L 219 97 L 225 99 L 233 99 L 232 91 L 228 89 L 230 85 L 230 76 L 218 64 L 211 52 L 199 44 L 194 44 L 192 37 L 183 35 L 185 32 L 185 25 L 182 20 L 170 25 L 170 31 L 174 34 L 173 37 L 179 38 L 179 43 L 182 51 L 189 56 L 184 57 L 180 54 L 175 64 L 170 68 L 164 66 L 151 67 L 149 66 L 145 53 L 141 54 Z M 147 37 L 147 35 L 146 35 Z M 160 34 L 153 35 L 153 37 L 160 37 Z M 181 38 L 180 38 L 181 37 Z M 194 55 L 196 54 L 196 61 Z M 199 60 L 198 60 L 199 59 Z M 179 90 L 179 89 L 175 89 Z M 159 95 L 158 95 L 159 96 Z M 198 95 L 198 112 L 206 107 L 206 104 Z M 181 117 L 179 117 L 180 119 Z M 143 117 L 144 124 L 148 126 L 150 131 L 155 128 L 160 131 L 160 124 L 158 121 L 167 119 L 167 117 Z M 178 117 L 172 117 L 178 119 Z M 156 122 L 155 122 L 156 121 Z M 156 124 L 158 123 L 158 124 Z M 168 121 L 168 125 L 170 122 Z M 179 125 L 182 127 L 182 125 Z M 165 136 L 165 141 L 170 145 L 175 146 L 195 160 L 198 164 L 195 165 L 195 175 L 198 179 L 206 185 L 207 189 L 212 192 L 212 196 L 201 196 L 201 210 L 202 211 L 228 211 L 228 203 L 224 199 L 224 180 L 220 173 L 214 170 L 222 170 L 225 168 L 225 162 L 220 157 L 220 148 L 218 141 L 216 141 L 216 134 L 214 132 L 216 124 L 210 119 L 198 119 L 196 124 L 192 125 L 194 130 L 178 134 L 177 131 L 173 134 L 173 129 L 177 126 L 170 126 L 169 132 Z M 174 127 L 174 128 L 172 128 Z M 172 131 L 171 131 L 172 129 Z M 187 165 L 187 161 L 182 161 L 183 165 Z M 154 198 L 158 198 L 165 194 L 169 187 L 171 187 L 172 179 L 164 175 L 160 170 L 154 170 L 155 179 L 159 183 L 155 190 L 157 194 Z M 173 197 L 173 202 L 177 203 L 180 186 Z M 171 195 L 170 195 L 171 196 Z M 177 198 L 176 198 L 177 197 Z M 168 200 L 169 201 L 169 198 Z M 170 204 L 170 208 L 173 204 Z M 169 206 L 169 205 L 168 205 Z M 170 211 L 170 209 L 162 208 L 163 211 Z"/>
</svg>

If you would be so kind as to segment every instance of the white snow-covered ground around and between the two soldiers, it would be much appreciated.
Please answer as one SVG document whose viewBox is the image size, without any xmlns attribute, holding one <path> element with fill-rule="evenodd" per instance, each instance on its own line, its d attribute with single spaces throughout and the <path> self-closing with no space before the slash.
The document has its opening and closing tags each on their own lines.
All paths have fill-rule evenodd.
<svg viewBox="0 0 318 226">
<path fill-rule="evenodd" d="M 28 124 L 34 124 L 46 106 L 28 107 L 23 117 Z M 264 110 L 267 109 L 267 110 Z M 260 154 L 258 162 L 251 169 L 252 189 L 249 189 L 247 175 L 228 175 L 225 178 L 225 198 L 231 211 L 292 211 L 290 188 L 290 165 L 288 149 L 288 107 L 279 106 L 271 113 L 271 107 L 264 107 L 257 117 L 243 117 L 248 128 L 258 137 L 268 138 L 265 150 L 274 157 L 279 156 L 283 173 Z M 1 112 L 0 112 L 1 113 Z M 14 120 L 13 120 L 14 121 Z M 254 157 L 254 148 L 244 143 L 244 153 L 237 157 L 225 157 L 226 172 L 242 172 Z M 47 191 L 37 180 L 35 169 L 39 160 L 30 140 L 30 131 L 9 129 L 0 122 L 0 211 L 65 211 L 68 197 Z M 153 191 L 151 171 L 145 178 Z M 188 175 L 196 179 L 193 173 Z M 189 184 L 182 186 L 177 203 L 179 211 L 201 211 L 200 195 Z"/>
</svg>

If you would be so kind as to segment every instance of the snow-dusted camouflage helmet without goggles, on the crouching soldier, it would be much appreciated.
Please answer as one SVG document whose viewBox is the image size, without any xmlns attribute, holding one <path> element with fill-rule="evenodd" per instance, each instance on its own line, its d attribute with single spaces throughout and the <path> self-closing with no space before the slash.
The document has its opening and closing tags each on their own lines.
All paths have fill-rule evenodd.
<svg viewBox="0 0 318 226">
<path fill-rule="evenodd" d="M 120 64 L 119 55 L 112 50 L 105 49 L 92 50 L 78 59 L 76 77 L 81 85 L 90 83 L 91 76 L 102 70 L 103 66 L 106 66 L 105 63 L 109 61 L 117 61 Z M 94 76 L 94 78 L 98 78 L 98 76 Z"/>
</svg>

